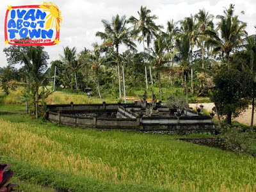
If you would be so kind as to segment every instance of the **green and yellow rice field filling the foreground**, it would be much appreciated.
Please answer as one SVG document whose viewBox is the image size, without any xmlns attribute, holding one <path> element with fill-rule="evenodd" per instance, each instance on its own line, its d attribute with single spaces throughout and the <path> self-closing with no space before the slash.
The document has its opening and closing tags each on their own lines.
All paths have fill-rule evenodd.
<svg viewBox="0 0 256 192">
<path fill-rule="evenodd" d="M 184 143 L 168 135 L 77 129 L 14 114 L 0 116 L 0 140 L 1 162 L 13 163 L 15 178 L 25 180 L 23 188 L 256 190 L 253 157 Z"/>
</svg>

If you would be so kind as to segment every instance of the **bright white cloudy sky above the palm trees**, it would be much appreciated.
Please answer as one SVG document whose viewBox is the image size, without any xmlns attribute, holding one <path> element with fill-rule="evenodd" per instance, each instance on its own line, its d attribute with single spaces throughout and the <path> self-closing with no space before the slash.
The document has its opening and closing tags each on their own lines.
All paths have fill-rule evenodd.
<svg viewBox="0 0 256 192">
<path fill-rule="evenodd" d="M 49 1 L 47 1 L 49 2 Z M 45 46 L 45 51 L 49 53 L 50 60 L 59 60 L 63 54 L 63 47 L 77 47 L 77 52 L 83 51 L 84 47 L 91 49 L 94 42 L 100 43 L 99 37 L 95 36 L 97 31 L 104 31 L 101 20 L 111 20 L 113 16 L 126 15 L 127 19 L 133 15 L 138 17 L 140 6 L 147 6 L 152 14 L 157 15 L 156 23 L 166 26 L 168 20 L 175 22 L 195 15 L 200 9 L 204 9 L 213 15 L 222 15 L 224 8 L 229 4 L 235 4 L 235 12 L 239 14 L 239 19 L 248 24 L 246 31 L 249 35 L 255 34 L 256 26 L 256 1 L 255 0 L 210 0 L 210 1 L 178 1 L 178 0 L 52 0 L 59 7 L 63 22 L 60 26 L 60 44 Z M 7 6 L 20 6 L 42 4 L 38 0 L 1 0 L 0 4 L 0 67 L 7 65 L 6 56 L 3 52 L 4 44 L 4 17 Z M 240 14 L 244 11 L 244 15 Z M 125 51 L 121 47 L 121 51 Z M 142 51 L 142 46 L 138 44 L 138 50 Z"/>
</svg>

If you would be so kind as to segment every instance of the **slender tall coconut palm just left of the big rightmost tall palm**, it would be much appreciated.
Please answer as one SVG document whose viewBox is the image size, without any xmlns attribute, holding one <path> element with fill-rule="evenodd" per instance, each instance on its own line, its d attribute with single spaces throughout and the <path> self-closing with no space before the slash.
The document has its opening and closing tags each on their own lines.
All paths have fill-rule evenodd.
<svg viewBox="0 0 256 192">
<path fill-rule="evenodd" d="M 195 15 L 196 20 L 196 28 L 199 29 L 199 34 L 204 34 L 206 29 L 212 30 L 214 28 L 214 24 L 212 19 L 213 15 L 209 14 L 209 12 L 205 12 L 205 10 L 199 10 L 199 12 Z M 205 56 L 205 42 L 204 36 L 199 36 L 198 45 L 202 51 L 202 68 L 204 68 L 204 56 Z"/>
</svg>

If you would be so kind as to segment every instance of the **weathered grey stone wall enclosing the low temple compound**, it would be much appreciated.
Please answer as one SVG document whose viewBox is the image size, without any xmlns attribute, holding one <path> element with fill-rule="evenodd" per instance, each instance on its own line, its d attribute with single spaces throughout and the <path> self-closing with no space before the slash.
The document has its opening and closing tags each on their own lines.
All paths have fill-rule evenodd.
<svg viewBox="0 0 256 192">
<path fill-rule="evenodd" d="M 49 105 L 48 120 L 63 125 L 97 129 L 125 129 L 140 131 L 165 131 L 184 134 L 186 132 L 215 132 L 211 116 L 141 116 L 141 108 L 134 104 L 70 104 Z M 167 111 L 168 108 L 161 108 Z M 78 116 L 74 111 L 87 111 L 86 113 L 102 113 L 102 111 L 115 111 L 116 118 L 100 116 Z M 93 112 L 94 111 L 94 112 Z M 67 114 L 70 113 L 70 114 Z M 137 114 L 138 113 L 138 114 Z"/>
</svg>

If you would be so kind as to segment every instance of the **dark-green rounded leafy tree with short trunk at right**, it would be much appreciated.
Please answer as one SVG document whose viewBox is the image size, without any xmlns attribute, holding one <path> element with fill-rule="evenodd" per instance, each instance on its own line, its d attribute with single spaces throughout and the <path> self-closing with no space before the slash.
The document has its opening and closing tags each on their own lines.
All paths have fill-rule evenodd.
<svg viewBox="0 0 256 192">
<path fill-rule="evenodd" d="M 228 124 L 231 124 L 232 115 L 239 115 L 248 106 L 248 96 L 252 92 L 252 80 L 248 72 L 237 70 L 223 70 L 214 77 L 216 87 L 212 100 L 220 115 L 227 116 Z"/>
</svg>

